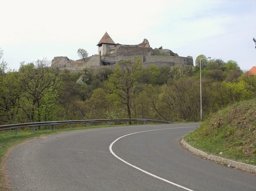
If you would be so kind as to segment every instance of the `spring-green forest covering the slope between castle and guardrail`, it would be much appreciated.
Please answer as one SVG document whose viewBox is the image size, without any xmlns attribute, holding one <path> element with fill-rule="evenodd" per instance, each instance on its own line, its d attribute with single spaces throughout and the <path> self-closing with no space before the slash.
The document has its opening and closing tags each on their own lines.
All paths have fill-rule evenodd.
<svg viewBox="0 0 256 191">
<path fill-rule="evenodd" d="M 1 55 L 2 57 L 2 55 Z M 121 61 L 115 70 L 60 71 L 47 59 L 0 63 L 0 125 L 89 119 L 200 121 L 199 55 L 193 67 L 143 67 Z M 202 60 L 203 119 L 222 107 L 256 96 L 256 75 L 234 60 Z"/>
</svg>

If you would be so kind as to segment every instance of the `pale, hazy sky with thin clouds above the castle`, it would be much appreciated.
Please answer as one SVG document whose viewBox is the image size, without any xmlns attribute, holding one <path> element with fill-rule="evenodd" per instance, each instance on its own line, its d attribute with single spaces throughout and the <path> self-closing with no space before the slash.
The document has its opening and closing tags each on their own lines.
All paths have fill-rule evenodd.
<svg viewBox="0 0 256 191">
<path fill-rule="evenodd" d="M 204 54 L 256 66 L 256 0 L 0 0 L 0 48 L 8 68 L 55 56 L 90 55 L 108 32 L 115 43 Z M 2 60 L 1 60 L 2 61 Z"/>
</svg>

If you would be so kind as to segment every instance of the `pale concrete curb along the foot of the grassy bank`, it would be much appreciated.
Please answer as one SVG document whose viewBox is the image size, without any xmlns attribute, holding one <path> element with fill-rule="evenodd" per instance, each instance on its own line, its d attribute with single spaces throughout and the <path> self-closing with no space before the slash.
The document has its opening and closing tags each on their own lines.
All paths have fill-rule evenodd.
<svg viewBox="0 0 256 191">
<path fill-rule="evenodd" d="M 217 161 L 217 162 L 223 162 L 227 165 L 230 165 L 231 167 L 238 167 L 240 169 L 245 169 L 245 170 L 248 170 L 248 171 L 251 171 L 251 172 L 256 172 L 256 166 L 253 166 L 251 164 L 245 164 L 245 163 L 242 163 L 242 162 L 237 162 L 237 161 L 233 161 L 233 160 L 229 160 L 229 159 L 226 159 L 226 158 L 222 158 L 222 157 L 217 157 L 217 156 L 214 156 L 214 155 L 209 155 L 203 151 L 200 151 L 192 146 L 190 146 L 188 143 L 186 143 L 186 141 L 184 141 L 183 139 L 181 140 L 181 143 L 191 152 L 193 153 L 196 153 L 198 155 L 201 155 L 207 159 L 210 159 L 210 160 L 214 160 L 214 161 Z"/>
</svg>

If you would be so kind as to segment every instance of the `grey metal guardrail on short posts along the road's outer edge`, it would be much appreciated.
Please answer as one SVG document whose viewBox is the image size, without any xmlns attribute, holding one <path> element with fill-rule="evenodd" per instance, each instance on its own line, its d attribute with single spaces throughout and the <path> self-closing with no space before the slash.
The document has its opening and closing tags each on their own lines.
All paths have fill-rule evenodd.
<svg viewBox="0 0 256 191">
<path fill-rule="evenodd" d="M 72 124 L 76 123 L 89 123 L 89 127 L 91 127 L 91 123 L 100 123 L 100 122 L 108 122 L 110 126 L 110 122 L 119 122 L 119 121 L 126 121 L 127 125 L 129 125 L 130 121 L 142 121 L 144 124 L 146 122 L 154 122 L 154 123 L 167 123 L 171 124 L 174 122 L 169 121 L 159 121 L 159 120 L 151 120 L 151 119 L 96 119 L 96 120 L 74 120 L 74 121 L 46 121 L 46 122 L 35 122 L 35 123 L 20 123 L 20 124 L 11 124 L 11 125 L 0 125 L 0 131 L 2 130 L 9 130 L 15 129 L 15 135 L 18 134 L 18 128 L 23 127 L 33 127 L 33 132 L 35 132 L 35 126 L 44 126 L 44 125 L 60 125 L 60 124 L 70 124 L 70 129 L 72 128 Z"/>
</svg>

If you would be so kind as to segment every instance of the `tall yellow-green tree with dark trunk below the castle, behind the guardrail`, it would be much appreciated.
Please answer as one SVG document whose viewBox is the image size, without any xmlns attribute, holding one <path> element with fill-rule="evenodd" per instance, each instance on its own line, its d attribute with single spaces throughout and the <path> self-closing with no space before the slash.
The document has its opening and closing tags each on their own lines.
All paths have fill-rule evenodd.
<svg viewBox="0 0 256 191">
<path fill-rule="evenodd" d="M 108 88 L 110 99 L 115 104 L 122 104 L 127 110 L 127 116 L 131 119 L 131 99 L 134 93 L 134 85 L 140 77 L 141 59 L 134 56 L 135 63 L 130 60 L 120 61 L 116 65 L 114 73 L 109 76 Z"/>
</svg>

